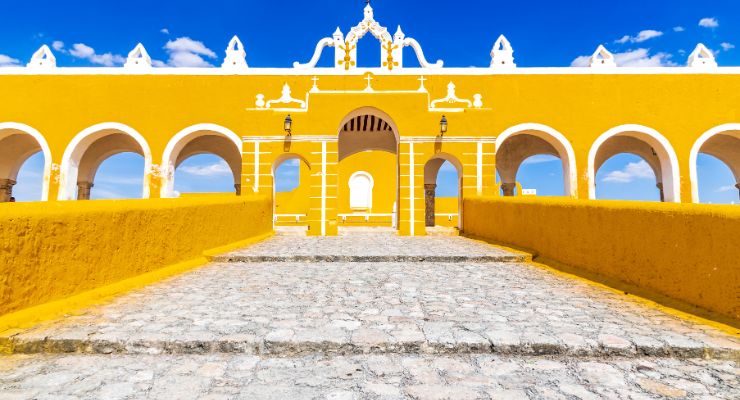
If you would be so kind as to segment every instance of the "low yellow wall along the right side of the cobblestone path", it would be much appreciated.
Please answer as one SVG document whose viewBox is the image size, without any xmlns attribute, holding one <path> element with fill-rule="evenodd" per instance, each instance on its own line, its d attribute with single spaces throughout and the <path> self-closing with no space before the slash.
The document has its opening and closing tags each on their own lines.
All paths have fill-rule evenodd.
<svg viewBox="0 0 740 400">
<path fill-rule="evenodd" d="M 468 235 L 738 326 L 740 207 L 479 197 L 464 210 Z"/>
</svg>

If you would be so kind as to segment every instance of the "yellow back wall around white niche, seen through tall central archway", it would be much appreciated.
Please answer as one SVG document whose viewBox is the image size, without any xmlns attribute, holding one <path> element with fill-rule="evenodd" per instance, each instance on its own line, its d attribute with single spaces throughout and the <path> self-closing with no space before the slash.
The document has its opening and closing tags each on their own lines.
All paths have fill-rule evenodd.
<svg viewBox="0 0 740 400">
<path fill-rule="evenodd" d="M 339 162 L 339 214 L 352 214 L 349 206 L 349 178 L 358 171 L 365 171 L 373 177 L 373 203 L 368 211 L 361 213 L 391 214 L 397 199 L 396 174 L 398 161 L 395 154 L 386 151 L 363 151 L 353 154 Z M 391 217 L 373 217 L 369 222 L 362 218 L 350 217 L 345 225 L 390 226 Z"/>
</svg>

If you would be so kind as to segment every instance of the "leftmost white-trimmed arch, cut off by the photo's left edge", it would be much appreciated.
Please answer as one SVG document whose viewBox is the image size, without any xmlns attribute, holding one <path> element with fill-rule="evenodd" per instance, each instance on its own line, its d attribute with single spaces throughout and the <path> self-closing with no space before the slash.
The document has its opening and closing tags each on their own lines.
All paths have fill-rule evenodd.
<svg viewBox="0 0 740 400">
<path fill-rule="evenodd" d="M 6 122 L 0 123 L 0 203 L 15 199 L 13 187 L 19 183 L 19 172 L 26 162 L 41 153 L 42 168 L 29 176 L 36 180 L 31 184 L 41 187 L 38 200 L 49 198 L 49 173 L 51 171 L 51 151 L 39 131 L 28 125 Z M 25 178 L 23 174 L 22 176 Z M 30 182 L 23 182 L 23 184 Z M 33 200 L 33 199 L 24 199 Z"/>
</svg>

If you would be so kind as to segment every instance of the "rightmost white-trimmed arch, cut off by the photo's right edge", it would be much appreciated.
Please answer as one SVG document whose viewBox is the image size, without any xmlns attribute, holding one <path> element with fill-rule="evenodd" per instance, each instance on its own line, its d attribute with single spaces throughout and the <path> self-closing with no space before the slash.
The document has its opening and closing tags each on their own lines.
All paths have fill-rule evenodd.
<svg viewBox="0 0 740 400">
<path fill-rule="evenodd" d="M 701 164 L 714 164 L 714 168 L 711 171 L 702 171 Z M 729 177 L 707 182 L 709 177 L 728 175 L 718 173 L 721 172 L 717 171 L 722 169 L 721 164 L 729 169 Z M 691 149 L 689 167 L 691 200 L 694 203 L 737 203 L 740 191 L 740 124 L 720 125 L 701 135 Z"/>
</svg>

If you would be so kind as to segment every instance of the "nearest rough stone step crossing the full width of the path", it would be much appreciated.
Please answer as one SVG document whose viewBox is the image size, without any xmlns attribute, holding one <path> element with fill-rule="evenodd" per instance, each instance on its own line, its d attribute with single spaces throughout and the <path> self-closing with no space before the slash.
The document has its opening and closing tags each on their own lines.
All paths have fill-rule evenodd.
<svg viewBox="0 0 740 400">
<path fill-rule="evenodd" d="M 636 343 L 616 337 L 598 341 L 574 339 L 567 343 L 543 335 L 520 339 L 508 333 L 493 332 L 488 338 L 477 334 L 451 340 L 439 337 L 388 338 L 380 332 L 358 330 L 347 339 L 339 331 L 280 332 L 266 337 L 231 335 L 219 338 L 151 337 L 84 338 L 14 337 L 0 339 L 0 348 L 11 354 L 249 354 L 261 357 L 297 357 L 311 355 L 475 355 L 567 356 L 571 358 L 640 358 L 740 360 L 740 348 L 733 344 Z M 411 335 L 413 336 L 413 335 Z M 435 340 L 438 339 L 438 340 Z"/>
</svg>

